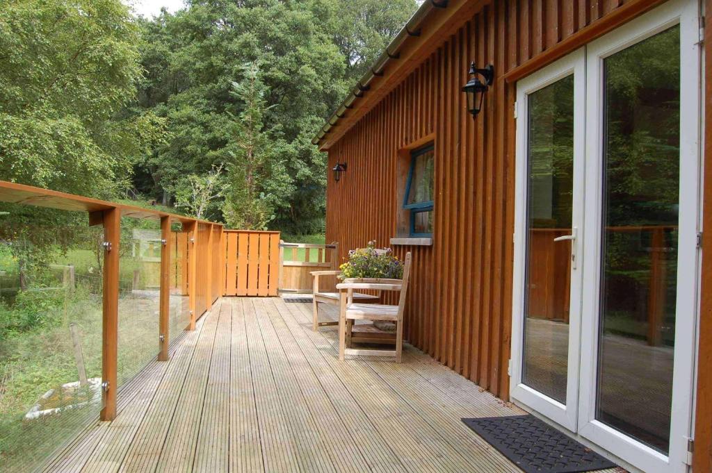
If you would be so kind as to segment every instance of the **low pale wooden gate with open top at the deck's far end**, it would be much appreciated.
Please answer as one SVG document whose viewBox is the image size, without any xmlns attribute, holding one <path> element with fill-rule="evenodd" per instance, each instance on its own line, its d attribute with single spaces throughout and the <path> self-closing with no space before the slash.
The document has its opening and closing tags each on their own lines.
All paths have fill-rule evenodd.
<svg viewBox="0 0 712 473">
<path fill-rule="evenodd" d="M 312 243 L 285 243 L 279 245 L 279 260 L 282 267 L 279 291 L 281 293 L 311 294 L 312 271 L 337 270 L 339 245 L 315 245 Z M 328 285 L 333 277 L 324 278 Z"/>
</svg>

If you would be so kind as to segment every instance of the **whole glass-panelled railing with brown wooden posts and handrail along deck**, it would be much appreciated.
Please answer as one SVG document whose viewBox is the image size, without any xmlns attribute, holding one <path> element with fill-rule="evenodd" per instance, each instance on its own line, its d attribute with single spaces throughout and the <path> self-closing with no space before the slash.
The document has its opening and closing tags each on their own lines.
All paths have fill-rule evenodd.
<svg viewBox="0 0 712 473">
<path fill-rule="evenodd" d="M 0 181 L 1 473 L 51 469 L 80 431 L 120 415 L 117 399 L 223 294 L 221 237 Z"/>
</svg>

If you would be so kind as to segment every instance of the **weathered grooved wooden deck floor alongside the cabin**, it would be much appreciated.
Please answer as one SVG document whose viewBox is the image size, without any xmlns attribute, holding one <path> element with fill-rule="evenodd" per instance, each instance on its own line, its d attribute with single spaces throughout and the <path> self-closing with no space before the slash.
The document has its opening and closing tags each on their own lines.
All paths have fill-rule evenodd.
<svg viewBox="0 0 712 473">
<path fill-rule="evenodd" d="M 460 419 L 523 411 L 411 346 L 340 363 L 310 310 L 221 299 L 46 471 L 520 471 Z"/>
</svg>

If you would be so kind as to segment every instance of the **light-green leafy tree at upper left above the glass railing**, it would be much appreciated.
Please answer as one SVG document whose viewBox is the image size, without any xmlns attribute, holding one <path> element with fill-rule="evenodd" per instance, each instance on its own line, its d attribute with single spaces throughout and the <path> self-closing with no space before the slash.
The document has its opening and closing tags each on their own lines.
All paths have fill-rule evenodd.
<svg viewBox="0 0 712 473">
<path fill-rule="evenodd" d="M 120 0 L 0 4 L 0 179 L 111 197 L 163 120 L 120 117 L 141 77 Z"/>
</svg>

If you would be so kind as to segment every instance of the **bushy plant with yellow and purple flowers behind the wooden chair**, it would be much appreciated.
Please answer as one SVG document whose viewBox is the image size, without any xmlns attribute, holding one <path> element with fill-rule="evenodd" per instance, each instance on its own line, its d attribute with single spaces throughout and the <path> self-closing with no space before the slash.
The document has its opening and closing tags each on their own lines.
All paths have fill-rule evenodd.
<svg viewBox="0 0 712 473">
<path fill-rule="evenodd" d="M 350 250 L 349 260 L 339 269 L 340 280 L 352 277 L 399 280 L 403 277 L 403 262 L 390 248 L 376 250 L 375 240 L 368 242 L 367 248 Z"/>
</svg>

